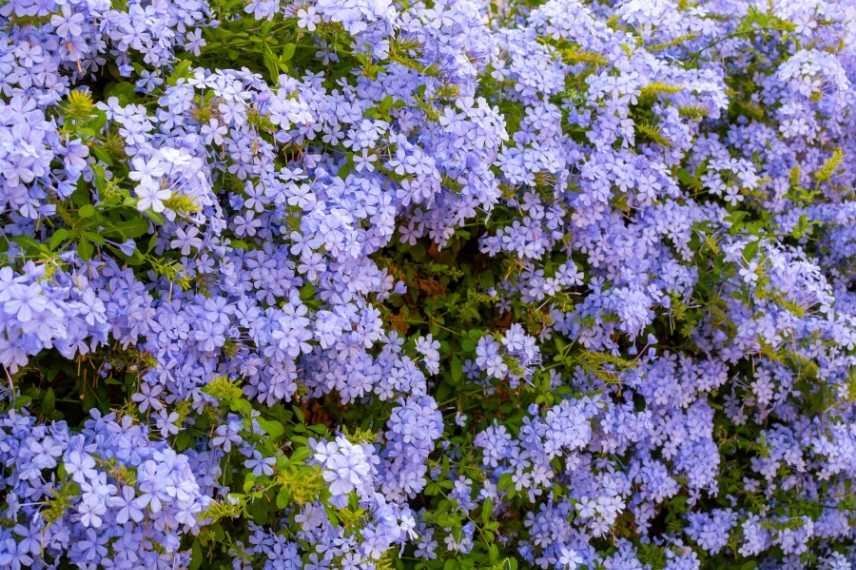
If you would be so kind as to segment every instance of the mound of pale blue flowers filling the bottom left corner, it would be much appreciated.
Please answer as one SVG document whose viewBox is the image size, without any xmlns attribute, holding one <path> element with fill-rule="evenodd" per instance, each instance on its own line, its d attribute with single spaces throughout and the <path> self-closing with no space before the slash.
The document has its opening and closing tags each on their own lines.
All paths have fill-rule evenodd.
<svg viewBox="0 0 856 570">
<path fill-rule="evenodd" d="M 9 568 L 67 557 L 79 567 L 170 567 L 210 502 L 188 456 L 127 416 L 93 411 L 79 433 L 12 412 L 0 423 L 0 560 Z"/>
</svg>

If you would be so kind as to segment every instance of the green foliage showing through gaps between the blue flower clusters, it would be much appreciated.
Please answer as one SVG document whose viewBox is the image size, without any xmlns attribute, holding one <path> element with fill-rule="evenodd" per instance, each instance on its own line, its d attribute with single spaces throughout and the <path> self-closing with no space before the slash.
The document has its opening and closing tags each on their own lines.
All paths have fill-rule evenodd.
<svg viewBox="0 0 856 570">
<path fill-rule="evenodd" d="M 688 2 L 682 1 L 680 4 L 681 9 L 691 8 Z M 324 71 L 324 81 L 333 87 L 338 81 L 353 81 L 354 69 L 360 69 L 368 77 L 375 77 L 383 71 L 382 63 L 388 63 L 355 52 L 350 36 L 339 25 L 319 24 L 317 37 L 310 38 L 297 27 L 294 18 L 278 16 L 259 22 L 244 14 L 243 7 L 241 0 L 216 0 L 212 3 L 220 25 L 205 30 L 207 44 L 199 57 L 180 59 L 175 63 L 166 78 L 167 85 L 175 85 L 191 77 L 196 66 L 216 67 L 225 64 L 246 67 L 260 73 L 271 85 L 279 83 L 281 74 L 296 76 L 304 72 Z M 610 25 L 613 28 L 621 27 L 617 20 L 611 21 Z M 793 23 L 751 6 L 734 34 L 787 36 L 795 30 Z M 635 34 L 629 29 L 627 33 Z M 654 52 L 684 49 L 695 39 L 695 34 L 687 34 L 649 45 L 647 49 Z M 337 56 L 337 61 L 332 64 L 319 62 L 315 57 L 317 45 L 313 42 L 325 43 Z M 568 74 L 564 91 L 551 98 L 560 107 L 566 107 L 565 103 L 581 104 L 585 100 L 586 78 L 592 73 L 603 71 L 613 58 L 612 54 L 607 57 L 568 41 L 548 38 L 543 39 L 542 43 L 556 61 L 575 66 L 574 69 L 578 70 L 577 73 Z M 420 46 L 414 42 L 407 43 L 394 38 L 390 44 L 388 61 L 431 77 L 436 80 L 436 89 L 429 93 L 422 85 L 413 93 L 382 97 L 365 111 L 366 118 L 391 122 L 402 109 L 412 107 L 429 119 L 438 120 L 444 107 L 457 96 L 457 88 L 444 83 L 436 66 L 426 66 L 420 62 L 419 49 Z M 628 52 L 633 49 L 625 46 Z M 752 69 L 747 69 L 744 74 L 729 78 L 731 107 L 728 112 L 732 117 L 741 119 L 770 121 L 768 110 L 753 97 L 758 86 L 751 72 Z M 519 100 L 502 96 L 507 87 L 502 80 L 492 76 L 488 69 L 479 83 L 478 95 L 496 104 L 506 122 L 507 131 L 513 134 L 519 130 L 527 109 Z M 637 143 L 666 148 L 672 146 L 653 110 L 656 105 L 680 100 L 681 95 L 680 86 L 663 82 L 652 82 L 640 89 L 638 101 L 631 107 Z M 100 89 L 99 97 L 117 97 L 122 104 L 145 103 L 145 99 L 135 92 L 134 85 L 125 81 L 106 83 Z M 413 102 L 405 102 L 401 97 L 412 97 Z M 199 119 L 210 117 L 212 109 L 216 109 L 211 96 L 198 96 L 195 105 L 194 113 Z M 94 105 L 93 96 L 83 91 L 72 91 L 60 109 L 63 136 L 81 140 L 92 156 L 111 166 L 112 176 L 105 174 L 103 167 L 94 166 L 91 183 L 81 182 L 68 200 L 56 201 L 61 225 L 47 221 L 43 228 L 45 239 L 41 241 L 29 237 L 15 238 L 22 257 L 43 263 L 50 272 L 62 267 L 63 261 L 59 255 L 62 251 L 74 249 L 81 259 L 88 260 L 106 250 L 136 271 L 152 271 L 177 287 L 204 293 L 204 283 L 187 277 L 177 256 L 155 255 L 156 240 L 144 239 L 166 220 L 153 211 L 141 212 L 137 209 L 137 200 L 129 190 L 132 185 L 127 178 L 128 157 L 124 154 L 121 140 L 117 143 L 115 127 L 105 130 L 106 115 Z M 683 105 L 677 107 L 677 110 L 681 117 L 692 121 L 704 121 L 710 114 L 707 108 L 700 105 Z M 562 126 L 566 127 L 568 136 L 585 140 L 586 133 L 569 126 L 567 109 L 564 113 Z M 271 137 L 275 131 L 269 119 L 259 114 L 250 113 L 248 121 L 260 136 Z M 299 145 L 295 145 L 287 152 L 299 153 L 302 150 Z M 787 198 L 796 207 L 815 203 L 821 196 L 821 190 L 826 188 L 823 185 L 834 180 L 843 160 L 843 150 L 836 148 L 830 151 L 829 157 L 813 174 L 805 175 L 800 172 L 799 166 L 795 166 L 791 171 Z M 338 174 L 344 177 L 353 170 L 354 156 L 348 154 Z M 702 182 L 708 171 L 706 162 L 676 165 L 673 171 L 682 190 L 689 195 L 700 196 L 706 192 Z M 394 174 L 386 174 L 394 179 Z M 549 176 L 539 174 L 533 191 L 550 195 L 553 192 L 551 183 Z M 242 191 L 242 182 L 236 177 L 224 176 L 217 184 L 225 188 L 234 187 L 236 193 Z M 461 185 L 449 178 L 444 179 L 443 184 L 456 192 L 462 191 Z M 505 189 L 509 193 L 515 191 L 507 187 Z M 627 211 L 633 207 L 626 196 L 616 193 L 612 198 L 613 205 L 619 210 Z M 173 194 L 166 205 L 178 216 L 192 215 L 200 208 L 191 197 L 180 194 Z M 408 347 L 418 336 L 429 333 L 440 341 L 443 373 L 432 380 L 432 394 L 444 414 L 444 425 L 449 432 L 444 437 L 452 448 L 464 450 L 464 456 L 456 459 L 458 474 L 471 477 L 476 486 L 484 482 L 484 473 L 480 468 L 480 454 L 473 445 L 475 433 L 471 425 L 487 425 L 496 421 L 514 432 L 523 425 L 523 417 L 530 405 L 543 410 L 564 398 L 579 395 L 567 385 L 554 385 L 550 371 L 560 372 L 566 378 L 576 374 L 585 375 L 603 385 L 602 391 L 606 397 L 623 397 L 622 376 L 639 364 L 633 358 L 587 350 L 579 343 L 568 342 L 557 335 L 540 345 L 544 369 L 534 375 L 531 383 L 523 383 L 514 389 L 507 385 L 490 386 L 491 396 L 486 397 L 483 386 L 467 378 L 465 363 L 475 357 L 477 343 L 486 334 L 501 334 L 511 323 L 524 323 L 530 334 L 537 335 L 552 324 L 553 317 L 547 302 L 540 306 L 519 300 L 507 304 L 498 302 L 495 289 L 506 281 L 513 281 L 527 267 L 518 260 L 500 262 L 480 251 L 479 239 L 483 237 L 483 232 L 495 231 L 512 223 L 515 214 L 504 205 L 497 206 L 490 215 L 480 213 L 470 223 L 459 228 L 442 249 L 423 240 L 415 246 L 391 245 L 374 255 L 380 267 L 407 285 L 406 294 L 393 296 L 387 302 L 378 304 L 387 330 L 399 333 L 409 343 Z M 291 230 L 299 229 L 299 209 L 286 208 L 283 217 Z M 693 335 L 701 326 L 721 332 L 727 338 L 734 338 L 738 330 L 730 317 L 729 304 L 742 302 L 749 305 L 746 300 L 750 297 L 755 303 L 768 303 L 770 307 L 797 317 L 814 309 L 799 304 L 769 285 L 763 243 L 765 239 L 775 236 L 776 221 L 764 204 L 748 196 L 739 207 L 729 208 L 727 222 L 728 232 L 732 236 L 747 240 L 741 252 L 742 261 L 758 263 L 755 274 L 757 284 L 752 289 L 752 295 L 736 293 L 729 296 L 722 291 L 721 284 L 735 278 L 742 266 L 726 260 L 721 236 L 704 225 L 694 227 L 686 256 L 688 264 L 698 274 L 698 281 L 691 294 L 673 294 L 669 299 L 668 310 L 663 311 L 644 331 L 658 339 L 657 350 L 703 354 Z M 816 226 L 816 222 L 808 216 L 801 215 L 788 239 L 797 242 L 807 240 L 813 236 Z M 131 255 L 116 246 L 128 240 L 134 245 Z M 241 239 L 231 239 L 230 245 L 240 250 L 252 248 L 248 241 Z M 0 262 L 7 262 L 5 252 L 5 249 L 0 249 Z M 584 256 L 572 253 L 569 247 L 565 254 L 553 254 L 546 263 L 547 273 L 555 271 L 568 260 L 575 261 L 585 270 Z M 579 290 L 558 291 L 550 296 L 548 302 L 570 311 L 581 292 L 582 287 Z M 321 306 L 316 288 L 311 283 L 306 283 L 299 293 L 301 301 L 311 310 Z M 758 307 L 748 308 L 755 310 Z M 610 315 L 610 318 L 617 319 L 614 315 Z M 836 399 L 841 397 L 840 393 L 836 392 L 835 386 L 819 377 L 815 362 L 789 348 L 786 340 L 789 339 L 773 344 L 759 337 L 757 353 L 794 372 L 796 387 L 805 396 L 808 409 L 816 414 L 828 411 L 835 405 Z M 625 339 L 619 342 L 624 343 L 622 349 L 629 348 Z M 238 350 L 238 347 L 234 339 L 226 341 L 227 351 Z M 102 378 L 95 363 L 103 359 L 105 352 L 109 352 L 113 368 Z M 512 372 L 521 372 L 519 363 L 513 358 L 507 358 L 505 363 Z M 70 422 L 81 421 L 85 411 L 91 408 L 107 410 L 119 405 L 124 406 L 124 412 L 133 414 L 135 412 L 125 406 L 125 402 L 136 391 L 139 374 L 149 364 L 149 355 L 121 347 L 105 347 L 103 352 L 78 357 L 75 362 L 65 361 L 55 354 L 46 355 L 17 375 L 16 381 L 26 379 L 26 382 L 21 382 L 21 397 L 16 405 L 29 404 L 30 409 L 41 418 L 65 418 Z M 740 375 L 752 366 L 751 359 L 738 362 L 734 366 L 734 374 Z M 847 397 L 856 401 L 856 372 L 851 371 L 847 388 Z M 295 400 L 298 403 L 290 406 L 262 406 L 247 397 L 238 379 L 227 376 L 217 377 L 203 391 L 216 400 L 217 405 L 199 415 L 195 415 L 189 405 L 179 410 L 181 420 L 188 420 L 189 425 L 171 438 L 169 443 L 179 451 L 188 450 L 197 438 L 210 435 L 234 414 L 242 424 L 241 436 L 252 442 L 265 457 L 274 458 L 275 463 L 271 475 L 254 475 L 244 465 L 244 458 L 239 453 L 232 452 L 223 459 L 220 483 L 231 485 L 234 491 L 212 503 L 200 515 L 206 524 L 198 536 L 183 545 L 191 550 L 191 568 L 226 567 L 227 563 L 232 562 L 231 558 L 244 559 L 250 565 L 257 563 L 239 547 L 240 541 L 246 541 L 246 521 L 278 527 L 283 517 L 293 518 L 298 507 L 313 501 L 324 504 L 331 520 L 341 526 L 343 532 L 359 532 L 366 513 L 356 504 L 343 508 L 329 504 L 321 470 L 309 460 L 309 441 L 330 437 L 331 426 L 349 426 L 344 430 L 344 435 L 352 442 L 378 441 L 383 437 L 384 424 L 393 403 L 372 401 L 349 408 L 335 398 L 327 397 L 317 401 L 298 398 Z M 763 504 L 767 498 L 759 491 L 746 489 L 743 480 L 743 475 L 749 471 L 751 458 L 763 456 L 766 452 L 766 444 L 759 435 L 762 426 L 751 420 L 739 427 L 728 422 L 722 412 L 726 403 L 723 394 L 712 393 L 710 403 L 717 411 L 715 426 L 724 462 L 720 497 L 730 497 L 752 505 Z M 456 426 L 455 416 L 458 414 L 466 414 L 471 423 L 449 427 Z M 384 554 L 376 567 L 443 570 L 516 570 L 526 567 L 525 563 L 509 555 L 509 549 L 498 540 L 506 531 L 522 527 L 524 513 L 531 506 L 525 491 L 517 488 L 512 474 L 505 473 L 499 479 L 498 489 L 507 501 L 501 512 L 492 500 L 485 500 L 478 509 L 467 514 L 462 513 L 457 502 L 450 498 L 453 482 L 449 477 L 453 471 L 449 457 L 435 453 L 429 467 L 438 470 L 440 476 L 428 481 L 423 496 L 419 498 L 420 507 L 426 509 L 426 522 L 451 529 L 453 535 L 458 533 L 458 536 L 464 525 L 474 524 L 476 532 L 473 550 L 455 558 L 419 563 L 413 563 L 408 558 L 408 552 L 399 555 L 398 552 L 390 551 Z M 117 473 L 117 477 L 124 480 L 132 480 L 134 476 L 134 473 Z M 562 492 L 566 491 L 555 489 L 554 496 L 558 497 Z M 79 493 L 80 489 L 74 482 L 65 476 L 61 477 L 53 497 L 43 510 L 46 520 L 50 522 L 62 516 L 71 504 L 71 499 Z M 788 518 L 776 523 L 780 526 L 775 528 L 792 528 L 802 514 L 817 514 L 816 504 L 791 500 L 785 496 L 776 499 L 781 505 L 779 508 L 782 514 Z M 712 506 L 726 506 L 725 499 L 718 497 L 704 500 Z M 664 532 L 680 532 L 686 526 L 685 515 L 690 510 L 690 498 L 680 493 L 667 500 L 661 510 L 662 513 L 652 524 Z M 629 524 L 626 523 L 625 528 Z M 622 530 L 621 524 L 616 525 L 616 528 L 612 539 L 621 538 L 622 532 L 625 532 L 625 536 L 630 534 Z M 661 545 L 639 545 L 640 559 L 653 569 L 665 567 L 667 551 L 667 547 Z M 734 551 L 736 549 L 732 547 L 731 553 Z M 719 558 L 711 557 L 705 561 L 705 567 L 754 567 L 752 561 L 735 562 L 740 557 L 729 556 L 723 554 Z"/>
</svg>

